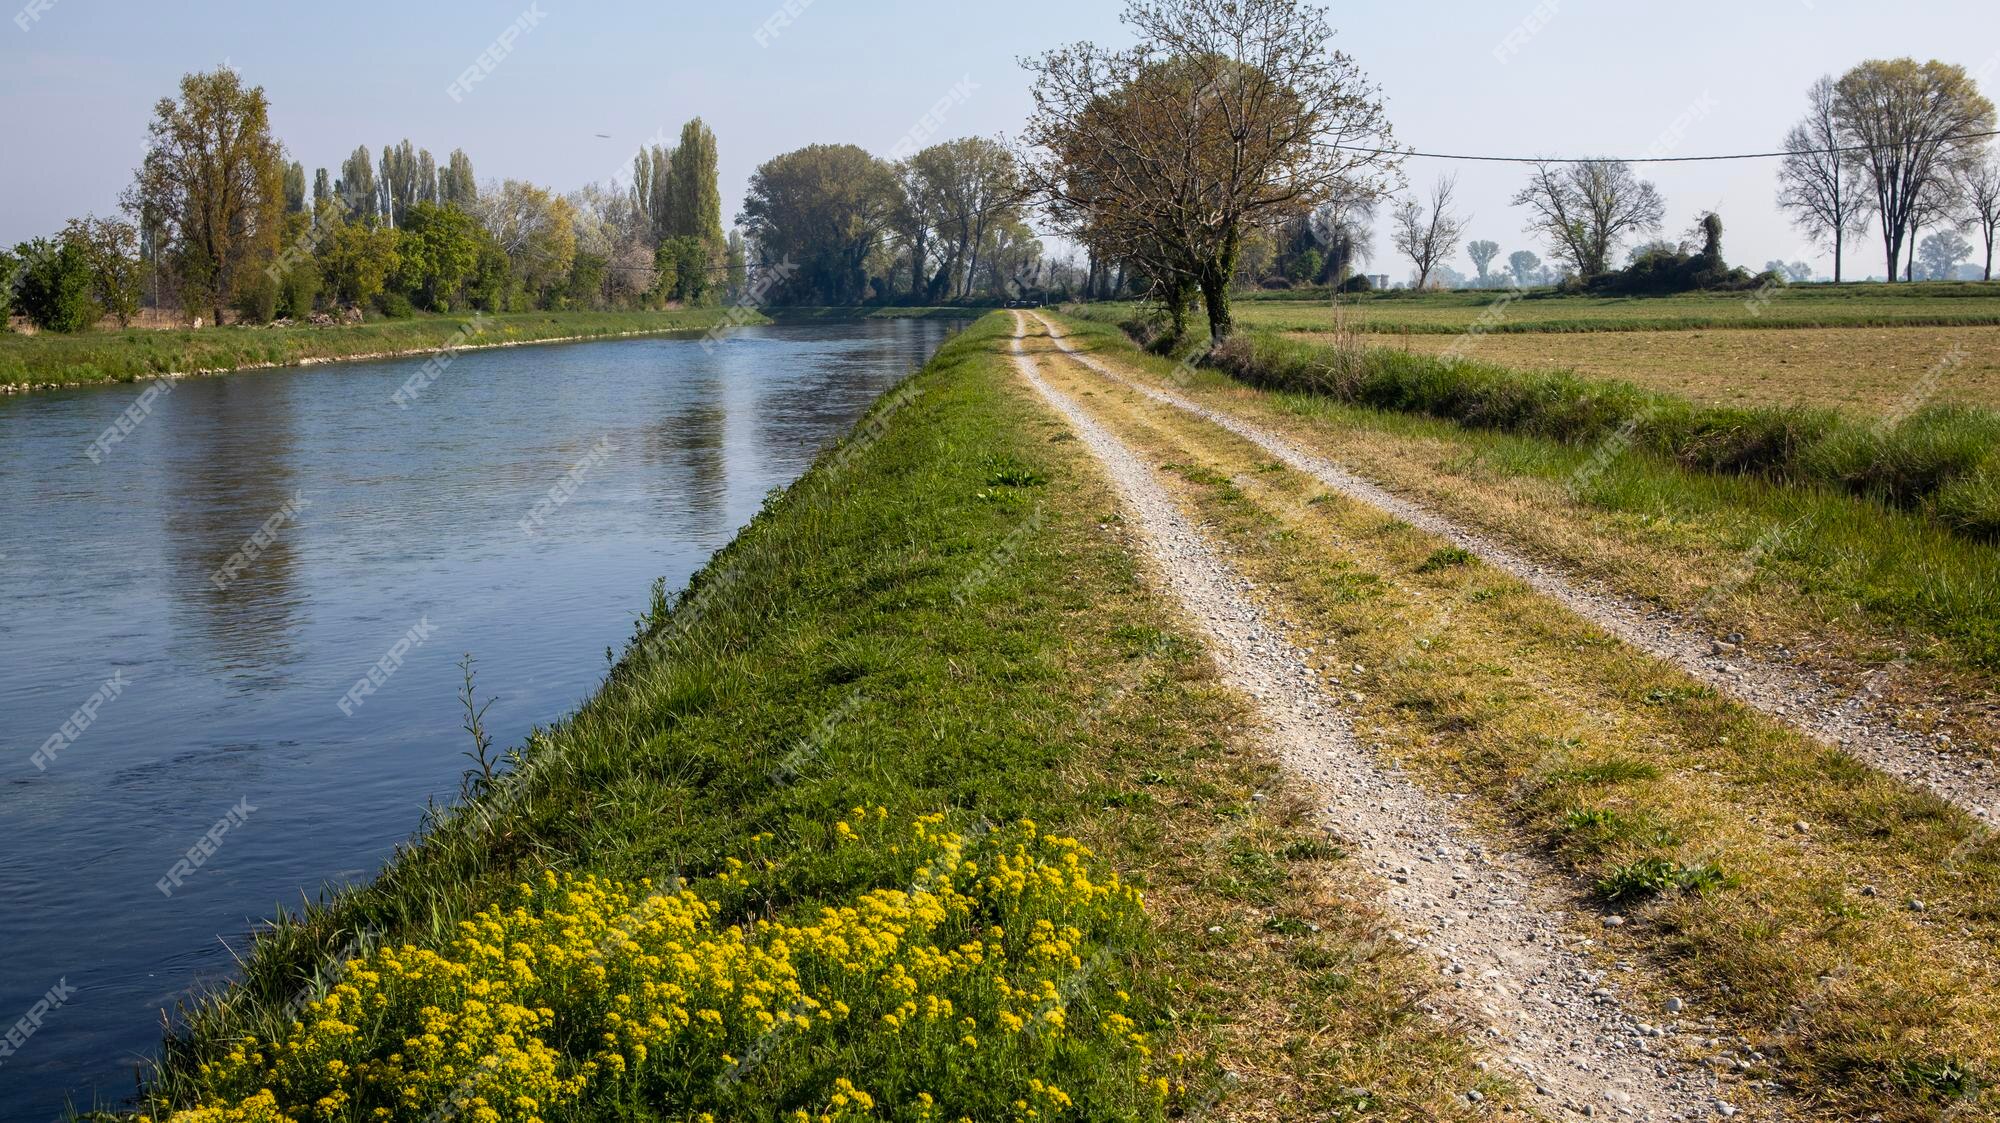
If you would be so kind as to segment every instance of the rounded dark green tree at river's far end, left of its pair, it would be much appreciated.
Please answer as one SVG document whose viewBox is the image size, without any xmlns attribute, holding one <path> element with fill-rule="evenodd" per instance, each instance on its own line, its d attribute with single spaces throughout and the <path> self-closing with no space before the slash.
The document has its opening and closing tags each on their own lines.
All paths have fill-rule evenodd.
<svg viewBox="0 0 2000 1123">
<path fill-rule="evenodd" d="M 766 262 L 796 270 L 778 286 L 788 302 L 858 304 L 866 262 L 902 206 L 896 170 L 852 144 L 808 144 L 750 176 L 736 222 Z"/>
</svg>

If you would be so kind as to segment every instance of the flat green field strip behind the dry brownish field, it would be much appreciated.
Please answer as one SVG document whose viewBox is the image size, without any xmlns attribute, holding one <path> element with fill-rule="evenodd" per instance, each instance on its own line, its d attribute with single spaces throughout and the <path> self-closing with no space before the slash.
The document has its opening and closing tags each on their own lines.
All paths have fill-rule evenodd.
<svg viewBox="0 0 2000 1123">
<path fill-rule="evenodd" d="M 1492 310 L 1492 316 L 1486 312 Z M 1238 320 L 1278 332 L 1676 332 L 1700 328 L 1876 328 L 2000 324 L 2000 284 L 1804 284 L 1748 292 L 1676 296 L 1562 296 L 1506 292 L 1380 292 L 1342 296 L 1338 312 L 1326 290 L 1242 294 Z M 1482 322 L 1482 316 L 1486 320 Z"/>
</svg>

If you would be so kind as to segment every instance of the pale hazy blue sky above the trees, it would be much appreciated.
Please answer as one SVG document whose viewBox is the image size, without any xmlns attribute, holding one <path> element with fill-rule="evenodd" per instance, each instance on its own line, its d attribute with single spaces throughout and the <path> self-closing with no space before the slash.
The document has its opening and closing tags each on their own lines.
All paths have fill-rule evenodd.
<svg viewBox="0 0 2000 1123">
<path fill-rule="evenodd" d="M 672 140 L 682 120 L 702 116 L 720 140 L 730 220 L 758 162 L 810 142 L 886 156 L 940 100 L 944 126 L 926 140 L 1018 132 L 1030 102 L 1016 58 L 1076 38 L 1122 44 L 1118 8 L 536 0 L 526 14 L 522 0 L 32 0 L 0 22 L 0 242 L 116 210 L 150 106 L 180 74 L 222 62 L 264 86 L 274 128 L 308 176 L 338 166 L 356 144 L 380 152 L 408 136 L 440 164 L 464 148 L 482 182 L 514 176 L 574 190 L 624 176 L 636 146 Z M 1766 152 L 1800 116 L 1814 78 L 1902 54 L 1964 64 L 2000 96 L 1994 0 L 1906 0 L 1894 14 L 1860 0 L 1338 2 L 1332 18 L 1334 46 L 1382 86 L 1396 136 L 1432 152 Z M 454 100 L 452 82 L 514 24 L 532 26 Z M 1468 238 L 1546 256 L 1508 206 L 1522 168 L 1406 166 L 1418 186 L 1444 170 L 1460 178 Z M 1732 262 L 1804 258 L 1828 268 L 1772 206 L 1772 160 L 1642 174 L 1666 196 L 1670 236 L 1714 208 Z M 1850 276 L 1882 272 L 1878 246 L 1870 238 L 1850 250 Z M 1452 266 L 1472 272 L 1462 252 Z M 1372 270 L 1408 270 L 1386 236 L 1376 238 Z"/>
</svg>

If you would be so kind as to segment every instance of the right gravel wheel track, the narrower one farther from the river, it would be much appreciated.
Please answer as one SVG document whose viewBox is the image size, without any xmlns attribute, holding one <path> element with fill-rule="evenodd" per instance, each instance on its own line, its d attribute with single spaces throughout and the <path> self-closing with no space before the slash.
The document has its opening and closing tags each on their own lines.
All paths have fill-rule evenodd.
<svg viewBox="0 0 2000 1123">
<path fill-rule="evenodd" d="M 1870 687 L 1876 679 L 1870 677 L 1858 691 L 1844 689 L 1804 667 L 1770 661 L 1736 643 L 1706 635 L 1684 615 L 1606 591 L 1586 589 L 1572 583 L 1560 569 L 1522 558 L 1506 546 L 1386 492 L 1330 460 L 1304 452 L 1270 430 L 1262 430 L 1234 414 L 1202 406 L 1170 390 L 1136 382 L 1112 370 L 1104 360 L 1074 348 L 1042 316 L 1036 316 L 1036 320 L 1042 322 L 1064 354 L 1112 382 L 1136 390 L 1162 406 L 1172 406 L 1214 422 L 1256 444 L 1286 466 L 1316 478 L 1334 492 L 1380 508 L 1410 526 L 1450 540 L 1462 550 L 1470 550 L 1494 569 L 1526 581 L 1538 593 L 1554 597 L 1618 639 L 1678 665 L 1698 681 L 1810 737 L 1846 749 L 1880 771 L 1930 789 L 1988 825 L 2000 817 L 2000 767 L 1976 747 L 1954 753 L 1938 741 L 1902 729 L 1884 713 L 1870 709 L 1874 697 Z"/>
</svg>

